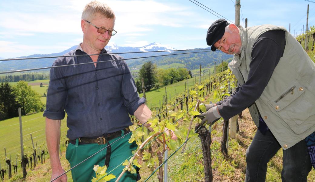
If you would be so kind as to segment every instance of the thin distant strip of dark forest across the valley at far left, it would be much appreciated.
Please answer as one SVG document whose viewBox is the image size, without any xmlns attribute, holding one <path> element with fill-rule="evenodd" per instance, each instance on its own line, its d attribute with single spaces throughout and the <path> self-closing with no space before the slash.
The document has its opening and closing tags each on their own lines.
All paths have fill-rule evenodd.
<svg viewBox="0 0 315 182">
<path fill-rule="evenodd" d="M 49 74 L 29 73 L 21 75 L 5 75 L 0 76 L 0 82 L 18 82 L 18 81 L 34 81 L 41 79 L 49 79 Z"/>
</svg>

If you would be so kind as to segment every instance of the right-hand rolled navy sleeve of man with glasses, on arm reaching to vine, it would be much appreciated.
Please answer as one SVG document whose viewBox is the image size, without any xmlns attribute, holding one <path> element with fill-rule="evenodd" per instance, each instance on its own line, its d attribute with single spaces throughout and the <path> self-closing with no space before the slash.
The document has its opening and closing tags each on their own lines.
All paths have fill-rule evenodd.
<svg viewBox="0 0 315 182">
<path fill-rule="evenodd" d="M 132 78 L 130 69 L 125 61 L 122 61 L 123 81 L 121 92 L 124 99 L 124 104 L 130 115 L 134 115 L 135 110 L 141 104 L 146 102 L 144 97 L 140 98 L 135 86 L 135 80 Z"/>
</svg>

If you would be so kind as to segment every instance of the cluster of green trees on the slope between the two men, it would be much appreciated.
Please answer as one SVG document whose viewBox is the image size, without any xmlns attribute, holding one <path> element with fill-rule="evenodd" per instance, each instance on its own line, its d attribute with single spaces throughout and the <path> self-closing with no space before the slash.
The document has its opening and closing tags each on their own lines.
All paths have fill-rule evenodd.
<svg viewBox="0 0 315 182">
<path fill-rule="evenodd" d="M 158 69 L 155 63 L 149 61 L 142 65 L 139 76 L 135 80 L 139 93 L 142 92 L 142 78 L 144 79 L 144 85 L 146 85 L 145 90 L 150 91 L 152 88 L 159 89 L 162 86 L 192 78 L 192 73 L 187 68 Z"/>
</svg>

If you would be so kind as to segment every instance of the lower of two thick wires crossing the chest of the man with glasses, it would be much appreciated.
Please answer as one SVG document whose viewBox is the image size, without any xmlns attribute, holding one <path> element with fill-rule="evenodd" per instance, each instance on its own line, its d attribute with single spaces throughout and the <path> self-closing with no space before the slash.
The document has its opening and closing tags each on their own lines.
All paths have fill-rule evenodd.
<svg viewBox="0 0 315 182">
<path fill-rule="evenodd" d="M 33 70 L 49 69 L 49 68 L 60 68 L 60 67 L 67 67 L 67 66 L 92 64 L 92 63 L 94 64 L 94 63 L 101 63 L 101 62 L 123 61 L 123 60 L 131 60 L 131 59 L 142 59 L 142 58 L 148 58 L 148 57 L 160 57 L 160 56 L 172 56 L 172 55 L 180 55 L 180 54 L 191 54 L 191 53 L 200 53 L 200 52 L 211 52 L 211 51 L 186 52 L 186 53 L 167 54 L 167 55 L 158 55 L 158 56 L 145 56 L 145 57 L 135 57 L 135 58 L 127 58 L 127 59 L 106 60 L 106 61 L 99 61 L 99 62 L 84 62 L 84 63 L 77 63 L 77 64 L 68 64 L 68 65 L 60 65 L 60 66 L 43 67 L 43 68 L 31 68 L 31 69 L 21 69 L 21 70 L 15 70 L 15 71 L 6 71 L 6 72 L 1 72 L 0 74 L 16 73 L 16 72 L 22 72 L 22 71 L 33 71 Z M 77 56 L 77 55 L 72 55 L 72 56 Z M 84 56 L 87 56 L 87 55 L 84 55 Z"/>
</svg>

